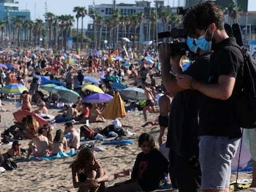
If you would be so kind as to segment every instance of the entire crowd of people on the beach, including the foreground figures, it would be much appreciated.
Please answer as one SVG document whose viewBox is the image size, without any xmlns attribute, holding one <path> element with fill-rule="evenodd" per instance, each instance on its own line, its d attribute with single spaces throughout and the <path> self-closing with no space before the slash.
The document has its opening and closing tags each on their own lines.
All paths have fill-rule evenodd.
<svg viewBox="0 0 256 192">
<path fill-rule="evenodd" d="M 243 56 L 238 48 L 230 46 L 236 40 L 224 30 L 223 11 L 213 2 L 203 2 L 189 9 L 184 15 L 183 25 L 187 46 L 194 52 L 195 61 L 184 70 L 184 56 L 172 54 L 168 43 L 160 44 L 161 85 L 156 85 L 154 78 L 159 72 L 156 69 L 158 60 L 148 65 L 145 58 L 140 60 L 140 65 L 126 66 L 118 59 L 90 54 L 86 59 L 79 60 L 77 69 L 69 63 L 72 54 L 65 57 L 65 63 L 61 52 L 56 57 L 35 54 L 34 58 L 29 57 L 32 58 L 30 60 L 25 52 L 16 61 L 20 65 L 19 70 L 6 72 L 1 69 L 2 86 L 17 81 L 28 85 L 27 77 L 30 74 L 33 76 L 30 92 L 23 91 L 20 96 L 22 109 L 27 111 L 32 111 L 31 104 L 34 102 L 39 107 L 34 112 L 48 113 L 46 106 L 51 101 L 46 101 L 39 90 L 40 75 L 45 73 L 80 94 L 76 103 L 65 108 L 58 101 L 62 108 L 59 117 L 64 118 L 65 130 L 56 131 L 54 137 L 51 125 L 40 127 L 33 115 L 24 119 L 25 127 L 20 125 L 22 128 L 16 133 L 9 130 L 18 138 L 24 136 L 31 140 L 27 157 L 31 154 L 47 156 L 50 151 L 52 155 L 59 151 L 79 151 L 77 159 L 70 165 L 74 186 L 79 191 L 152 191 L 158 189 L 166 173 L 169 173 L 173 188 L 179 191 L 229 191 L 231 161 L 242 136 L 231 106 L 233 96 L 241 89 L 239 67 L 244 62 Z M 144 52 L 146 56 L 150 56 L 149 52 Z M 9 58 L 4 61 L 9 61 Z M 111 83 L 122 83 L 126 78 L 134 80 L 132 86 L 143 88 L 146 100 L 139 103 L 143 119 L 148 121 L 147 111 L 159 113 L 159 146 L 164 143 L 168 128 L 166 147 L 169 148 L 169 161 L 155 148 L 153 137 L 142 133 L 139 136 L 142 152 L 137 155 L 133 169 L 116 174 L 116 177 L 130 175 L 130 179 L 106 189 L 104 182 L 108 180 L 108 174 L 96 160 L 95 152 L 88 148 L 79 150 L 81 135 L 73 126 L 87 120 L 104 121 L 101 111 L 105 105 L 81 101 L 87 95 L 87 91 L 81 88 L 84 74 L 94 72 L 99 73 L 100 88 L 109 94 L 115 93 Z M 109 77 L 112 77 L 111 80 Z M 151 82 L 147 81 L 148 77 Z M 64 136 L 66 133 L 70 133 L 68 139 Z M 254 151 L 251 152 L 253 156 Z M 19 154 L 20 143 L 14 141 L 12 148 L 2 156 L 8 158 Z M 252 187 L 256 186 L 255 179 L 254 171 Z"/>
</svg>

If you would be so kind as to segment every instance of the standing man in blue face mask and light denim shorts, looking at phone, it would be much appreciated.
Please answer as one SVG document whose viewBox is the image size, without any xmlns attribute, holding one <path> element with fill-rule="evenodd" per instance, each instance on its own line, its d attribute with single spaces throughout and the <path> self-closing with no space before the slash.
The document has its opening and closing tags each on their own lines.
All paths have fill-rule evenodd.
<svg viewBox="0 0 256 192">
<path fill-rule="evenodd" d="M 203 93 L 199 117 L 199 161 L 202 191 L 228 192 L 231 161 L 241 141 L 241 128 L 233 109 L 233 97 L 242 90 L 242 52 L 236 39 L 224 29 L 223 10 L 212 1 L 189 9 L 184 17 L 185 33 L 198 48 L 213 50 L 208 82 L 190 75 L 176 74 L 179 86 Z"/>
</svg>

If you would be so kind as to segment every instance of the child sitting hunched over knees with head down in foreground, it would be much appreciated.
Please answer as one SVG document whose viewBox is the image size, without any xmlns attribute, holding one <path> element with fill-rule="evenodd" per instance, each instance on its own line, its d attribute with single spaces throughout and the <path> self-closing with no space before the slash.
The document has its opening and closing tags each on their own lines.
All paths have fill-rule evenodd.
<svg viewBox="0 0 256 192">
<path fill-rule="evenodd" d="M 105 170 L 95 159 L 95 152 L 90 148 L 82 148 L 77 159 L 70 165 L 75 188 L 83 191 L 105 191 L 104 182 L 108 180 Z"/>
</svg>

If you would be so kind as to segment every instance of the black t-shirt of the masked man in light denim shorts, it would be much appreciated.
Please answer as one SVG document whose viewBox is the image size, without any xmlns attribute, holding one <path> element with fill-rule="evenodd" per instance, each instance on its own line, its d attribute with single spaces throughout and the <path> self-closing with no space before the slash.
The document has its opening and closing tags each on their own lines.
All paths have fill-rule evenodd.
<svg viewBox="0 0 256 192">
<path fill-rule="evenodd" d="M 211 54 L 208 83 L 217 83 L 220 75 L 229 75 L 236 78 L 237 85 L 241 79 L 237 76 L 239 67 L 243 64 L 241 51 L 235 46 L 227 46 L 233 38 L 228 38 L 215 45 Z M 199 110 L 199 135 L 228 136 L 228 138 L 241 137 L 241 129 L 234 118 L 232 97 L 226 100 L 203 97 L 203 104 Z"/>
</svg>

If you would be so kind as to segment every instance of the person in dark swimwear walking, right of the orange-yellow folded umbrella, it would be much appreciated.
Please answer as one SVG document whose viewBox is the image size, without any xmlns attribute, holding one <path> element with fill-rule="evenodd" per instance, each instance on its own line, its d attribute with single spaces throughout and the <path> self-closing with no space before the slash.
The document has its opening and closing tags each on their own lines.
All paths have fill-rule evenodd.
<svg viewBox="0 0 256 192">
<path fill-rule="evenodd" d="M 148 83 L 147 81 L 142 82 L 142 88 L 143 90 L 145 90 L 145 97 L 146 97 L 146 104 L 143 107 L 143 116 L 144 116 L 144 120 L 145 122 L 147 122 L 147 111 L 156 113 L 156 109 L 155 109 L 155 96 L 153 96 L 152 91 L 150 90 L 150 88 L 148 88 Z"/>
</svg>

